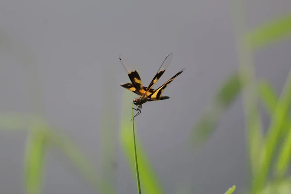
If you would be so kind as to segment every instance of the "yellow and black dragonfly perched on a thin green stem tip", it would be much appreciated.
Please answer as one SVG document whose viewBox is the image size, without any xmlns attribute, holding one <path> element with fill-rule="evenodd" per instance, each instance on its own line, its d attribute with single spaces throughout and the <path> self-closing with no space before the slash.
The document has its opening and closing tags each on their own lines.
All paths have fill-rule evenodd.
<svg viewBox="0 0 291 194">
<path fill-rule="evenodd" d="M 162 77 L 162 74 L 165 72 L 167 67 L 170 65 L 170 62 L 172 60 L 173 53 L 170 53 L 163 61 L 162 65 L 160 66 L 158 72 L 156 73 L 155 77 L 152 79 L 152 81 L 149 83 L 147 87 L 143 86 L 142 79 L 139 76 L 137 70 L 130 66 L 129 63 L 125 64 L 124 59 L 126 59 L 123 54 L 119 55 L 120 63 L 122 64 L 124 70 L 127 72 L 129 76 L 129 80 L 131 83 L 120 83 L 120 85 L 131 92 L 134 92 L 135 94 L 139 95 L 138 98 L 133 99 L 133 104 L 137 106 L 137 108 L 133 108 L 135 111 L 138 111 L 134 116 L 133 119 L 138 116 L 142 112 L 142 105 L 148 101 L 157 101 L 157 100 L 164 100 L 168 99 L 170 97 L 168 96 L 162 96 L 162 92 L 164 89 L 178 76 L 180 75 L 185 68 L 180 70 L 176 75 L 174 75 L 170 80 L 166 81 L 164 84 L 162 84 L 161 87 L 158 89 L 153 89 L 152 87 L 155 85 L 155 83 Z"/>
</svg>

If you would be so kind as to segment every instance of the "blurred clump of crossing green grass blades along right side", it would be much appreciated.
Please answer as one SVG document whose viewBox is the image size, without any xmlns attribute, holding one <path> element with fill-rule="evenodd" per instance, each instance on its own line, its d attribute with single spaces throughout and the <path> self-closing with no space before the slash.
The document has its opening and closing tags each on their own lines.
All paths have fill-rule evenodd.
<svg viewBox="0 0 291 194">
<path fill-rule="evenodd" d="M 233 2 L 233 14 L 242 14 L 241 2 Z M 291 35 L 291 15 L 275 19 L 265 25 L 259 26 L 251 32 L 247 32 L 244 28 L 245 16 L 237 15 L 237 23 L 235 31 L 237 32 L 237 44 L 239 54 L 239 64 L 241 65 L 240 72 L 234 73 L 227 79 L 214 97 L 211 106 L 208 106 L 206 113 L 196 122 L 194 126 L 193 141 L 201 138 L 205 141 L 207 137 L 216 128 L 221 114 L 231 105 L 237 95 L 241 92 L 244 96 L 244 108 L 246 114 L 246 129 L 247 142 L 249 151 L 249 162 L 252 173 L 252 183 L 250 193 L 268 193 L 270 188 L 274 191 L 275 188 L 282 191 L 286 188 L 282 180 L 286 179 L 286 173 L 291 162 L 291 119 L 289 118 L 289 109 L 291 105 L 291 70 L 284 90 L 277 97 L 275 91 L 267 81 L 257 83 L 254 77 L 254 68 L 252 60 L 252 50 L 259 50 L 265 46 L 270 46 L 272 43 L 286 39 Z M 238 22 L 241 21 L 241 22 Z M 246 32 L 246 33 L 243 33 Z M 249 47 L 251 45 L 251 47 Z M 238 76 L 240 75 L 240 76 Z M 237 82 L 241 82 L 238 84 Z M 258 85 L 258 87 L 256 87 Z M 233 87 L 231 87 L 233 86 Z M 243 87 L 242 87 L 243 86 Z M 226 89 L 227 88 L 227 89 Z M 229 97 L 226 93 L 229 93 Z M 263 102 L 264 107 L 270 113 L 270 126 L 266 135 L 262 134 L 261 121 L 258 111 L 258 97 Z M 222 100 L 221 100 L 222 99 Z M 225 101 L 224 101 L 225 100 Z M 223 108 L 222 108 L 223 107 Z M 204 131 L 203 131 L 204 130 Z M 199 135 L 197 137 L 197 135 Z M 194 138 L 195 137 L 195 138 Z M 280 141 L 283 139 L 283 144 Z M 273 182 L 267 183 L 267 178 L 272 169 L 272 161 L 275 157 L 275 150 L 279 147 L 279 155 L 275 166 L 275 178 Z M 280 184 L 274 182 L 281 181 Z M 286 182 L 286 181 L 285 181 Z M 269 186 L 272 184 L 272 186 Z M 275 185 L 275 186 L 274 186 Z M 290 193 L 289 191 L 285 193 Z M 274 192 L 273 192 L 274 193 Z"/>
</svg>

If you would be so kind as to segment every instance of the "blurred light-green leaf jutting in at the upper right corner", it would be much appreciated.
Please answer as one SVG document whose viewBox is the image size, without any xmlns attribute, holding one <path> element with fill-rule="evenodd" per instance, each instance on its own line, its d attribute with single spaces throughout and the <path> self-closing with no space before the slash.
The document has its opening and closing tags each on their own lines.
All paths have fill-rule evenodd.
<svg viewBox="0 0 291 194">
<path fill-rule="evenodd" d="M 291 35 L 291 14 L 273 19 L 247 33 L 251 45 L 259 49 Z"/>
</svg>

